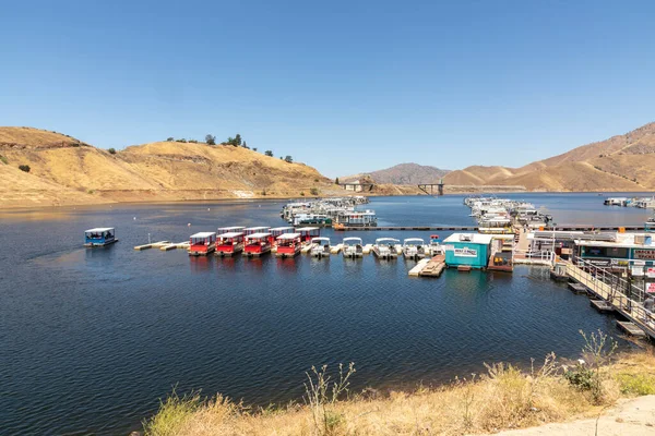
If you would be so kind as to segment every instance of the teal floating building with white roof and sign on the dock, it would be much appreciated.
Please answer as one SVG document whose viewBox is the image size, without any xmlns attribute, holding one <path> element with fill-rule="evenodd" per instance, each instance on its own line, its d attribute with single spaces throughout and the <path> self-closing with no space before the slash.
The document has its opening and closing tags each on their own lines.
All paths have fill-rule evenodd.
<svg viewBox="0 0 655 436">
<path fill-rule="evenodd" d="M 489 263 L 491 234 L 453 233 L 443 240 L 449 267 L 486 268 Z"/>
</svg>

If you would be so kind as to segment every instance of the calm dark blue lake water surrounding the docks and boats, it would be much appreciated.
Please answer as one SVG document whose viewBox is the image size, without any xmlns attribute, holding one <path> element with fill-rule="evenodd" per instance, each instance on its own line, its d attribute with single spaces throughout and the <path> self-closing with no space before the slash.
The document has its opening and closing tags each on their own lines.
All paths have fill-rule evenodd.
<svg viewBox="0 0 655 436">
<path fill-rule="evenodd" d="M 596 194 L 502 196 L 543 206 L 558 225 L 639 225 L 651 214 L 603 206 Z M 380 197 L 364 208 L 380 226 L 472 225 L 462 199 Z M 355 362 L 354 389 L 440 384 L 484 362 L 574 358 L 580 329 L 618 334 L 538 267 L 418 279 L 402 258 L 133 250 L 148 233 L 179 242 L 218 226 L 283 226 L 284 203 L 0 210 L 0 434 L 127 434 L 174 386 L 249 404 L 299 400 L 305 371 L 323 363 Z M 85 229 L 105 226 L 117 228 L 118 244 L 81 246 Z"/>
</svg>

